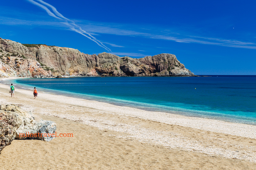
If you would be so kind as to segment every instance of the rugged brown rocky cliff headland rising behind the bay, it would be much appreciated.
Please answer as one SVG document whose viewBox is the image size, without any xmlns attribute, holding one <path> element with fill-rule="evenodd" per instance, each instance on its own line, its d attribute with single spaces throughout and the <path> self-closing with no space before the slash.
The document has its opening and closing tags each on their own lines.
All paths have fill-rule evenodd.
<svg viewBox="0 0 256 170">
<path fill-rule="evenodd" d="M 0 76 L 195 76 L 175 55 L 140 59 L 101 53 L 88 55 L 77 49 L 20 44 L 0 38 Z"/>
</svg>

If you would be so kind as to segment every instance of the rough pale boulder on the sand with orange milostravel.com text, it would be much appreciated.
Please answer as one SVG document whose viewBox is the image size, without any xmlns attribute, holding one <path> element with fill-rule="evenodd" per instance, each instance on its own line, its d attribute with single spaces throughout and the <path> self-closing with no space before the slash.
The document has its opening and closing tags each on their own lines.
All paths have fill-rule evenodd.
<svg viewBox="0 0 256 170">
<path fill-rule="evenodd" d="M 52 121 L 36 122 L 31 113 L 25 112 L 17 105 L 0 105 L 0 151 L 16 139 L 40 139 L 50 141 L 55 137 L 28 134 L 52 134 L 56 131 L 56 124 Z M 20 135 L 24 134 L 24 135 Z"/>
</svg>

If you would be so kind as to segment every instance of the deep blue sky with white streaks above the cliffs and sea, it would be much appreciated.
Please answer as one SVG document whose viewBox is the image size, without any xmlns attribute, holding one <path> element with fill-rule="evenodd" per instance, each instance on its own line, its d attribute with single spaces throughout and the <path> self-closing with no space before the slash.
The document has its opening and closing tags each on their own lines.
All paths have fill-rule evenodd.
<svg viewBox="0 0 256 170">
<path fill-rule="evenodd" d="M 256 1 L 1 2 L 0 37 L 140 58 L 170 53 L 197 75 L 256 75 Z"/>
</svg>

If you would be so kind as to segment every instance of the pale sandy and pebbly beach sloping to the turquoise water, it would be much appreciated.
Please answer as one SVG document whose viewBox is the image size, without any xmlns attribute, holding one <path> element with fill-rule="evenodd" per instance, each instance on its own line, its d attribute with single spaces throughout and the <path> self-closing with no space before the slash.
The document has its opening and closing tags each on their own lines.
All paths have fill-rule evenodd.
<svg viewBox="0 0 256 170">
<path fill-rule="evenodd" d="M 6 78 L 5 78 L 6 79 Z M 10 78 L 9 78 L 10 79 Z M 150 112 L 0 84 L 17 104 L 57 124 L 50 142 L 14 140 L 0 169 L 256 169 L 256 126 Z"/>
</svg>

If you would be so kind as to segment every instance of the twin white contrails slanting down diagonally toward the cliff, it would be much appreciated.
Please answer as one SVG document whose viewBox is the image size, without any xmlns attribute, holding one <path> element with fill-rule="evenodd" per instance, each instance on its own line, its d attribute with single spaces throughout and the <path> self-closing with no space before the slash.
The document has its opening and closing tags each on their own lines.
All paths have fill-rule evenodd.
<svg viewBox="0 0 256 170">
<path fill-rule="evenodd" d="M 63 16 L 60 12 L 58 12 L 57 9 L 56 9 L 54 6 L 52 6 L 51 4 L 48 4 L 48 3 L 46 3 L 46 2 L 44 2 L 44 1 L 42 1 L 42 0 L 27 0 L 27 1 L 30 2 L 30 3 L 32 3 L 32 4 L 34 4 L 34 5 L 37 5 L 37 6 L 41 7 L 41 8 L 43 8 L 43 9 L 48 13 L 48 15 L 50 15 L 50 16 L 52 16 L 52 17 L 54 17 L 54 18 L 60 19 L 60 20 L 64 20 L 64 21 L 65 21 L 64 24 L 66 24 L 67 26 L 69 26 L 69 28 L 70 28 L 72 31 L 75 31 L 75 32 L 77 32 L 77 33 L 80 33 L 81 35 L 84 35 L 84 36 L 87 37 L 88 39 L 90 39 L 90 40 L 96 42 L 100 47 L 105 48 L 106 50 L 108 50 L 108 51 L 111 52 L 111 50 L 110 50 L 108 47 L 106 47 L 105 45 L 103 45 L 102 42 L 100 42 L 99 40 L 97 40 L 97 39 L 96 39 L 95 37 L 93 37 L 90 33 L 87 33 L 86 31 L 84 31 L 80 26 L 76 25 L 76 23 L 75 23 L 74 21 L 72 21 L 72 20 L 70 20 L 70 19 L 64 17 L 64 16 Z M 41 4 L 39 4 L 39 3 L 36 2 L 36 1 L 40 2 Z M 50 11 L 46 6 L 44 6 L 44 5 L 42 5 L 42 4 L 44 4 L 44 5 L 48 6 L 48 7 L 50 7 L 50 8 L 52 9 L 53 13 L 52 13 L 52 11 Z M 87 34 L 87 35 L 86 35 L 86 34 Z"/>
</svg>

